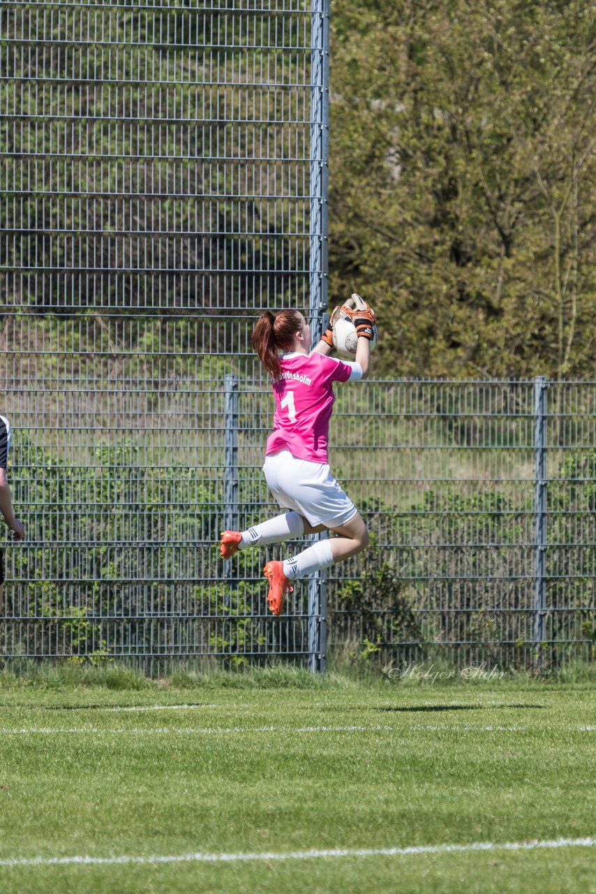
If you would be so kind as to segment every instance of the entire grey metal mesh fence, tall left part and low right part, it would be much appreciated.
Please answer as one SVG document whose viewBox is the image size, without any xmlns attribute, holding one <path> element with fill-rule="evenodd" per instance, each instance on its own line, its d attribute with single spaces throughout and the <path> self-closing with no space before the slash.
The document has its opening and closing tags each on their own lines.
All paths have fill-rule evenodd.
<svg viewBox="0 0 596 894">
<path fill-rule="evenodd" d="M 228 569 L 216 544 L 277 511 L 256 313 L 326 307 L 327 5 L 0 7 L 0 412 L 28 531 L 4 658 L 312 653 L 306 583 L 265 611 L 285 548 Z M 330 573 L 330 645 L 592 656 L 596 384 L 337 390 L 332 468 L 374 538 Z"/>
</svg>

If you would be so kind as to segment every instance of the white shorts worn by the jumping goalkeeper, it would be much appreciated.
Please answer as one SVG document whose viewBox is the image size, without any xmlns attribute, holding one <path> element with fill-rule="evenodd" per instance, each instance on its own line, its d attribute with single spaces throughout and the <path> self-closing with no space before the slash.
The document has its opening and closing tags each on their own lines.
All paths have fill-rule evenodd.
<svg viewBox="0 0 596 894">
<path fill-rule="evenodd" d="M 289 450 L 264 460 L 267 486 L 283 509 L 293 509 L 313 527 L 340 527 L 357 508 L 323 462 L 298 460 Z"/>
</svg>

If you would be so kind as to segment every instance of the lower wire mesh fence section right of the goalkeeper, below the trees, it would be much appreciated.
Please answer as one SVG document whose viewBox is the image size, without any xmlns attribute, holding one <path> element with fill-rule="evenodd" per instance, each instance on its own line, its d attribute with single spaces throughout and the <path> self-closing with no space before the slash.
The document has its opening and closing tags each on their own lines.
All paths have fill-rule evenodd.
<svg viewBox="0 0 596 894">
<path fill-rule="evenodd" d="M 332 645 L 388 667 L 592 659 L 596 385 L 384 382 L 338 403 L 373 544 L 329 582 Z"/>
</svg>

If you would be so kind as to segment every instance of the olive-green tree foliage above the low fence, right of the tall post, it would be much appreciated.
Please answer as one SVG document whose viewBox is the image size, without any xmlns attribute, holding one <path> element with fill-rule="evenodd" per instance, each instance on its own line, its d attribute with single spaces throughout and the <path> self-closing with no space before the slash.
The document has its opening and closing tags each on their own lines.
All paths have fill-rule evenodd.
<svg viewBox="0 0 596 894">
<path fill-rule="evenodd" d="M 385 375 L 592 375 L 593 14 L 339 0 L 330 279 Z"/>
</svg>

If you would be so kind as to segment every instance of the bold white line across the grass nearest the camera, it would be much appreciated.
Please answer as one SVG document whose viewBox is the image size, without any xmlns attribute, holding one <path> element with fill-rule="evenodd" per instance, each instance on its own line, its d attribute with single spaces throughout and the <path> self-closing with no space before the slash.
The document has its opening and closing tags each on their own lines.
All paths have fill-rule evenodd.
<svg viewBox="0 0 596 894">
<path fill-rule="evenodd" d="M 332 856 L 408 856 L 418 854 L 453 854 L 491 850 L 534 850 L 550 848 L 593 848 L 596 838 L 554 839 L 552 841 L 477 841 L 473 844 L 420 845 L 413 848 L 341 848 L 336 850 L 295 850 L 264 854 L 175 854 L 168 856 L 34 856 L 29 859 L 0 859 L 0 866 L 67 866 L 163 864 L 163 863 L 248 863 L 252 860 L 316 860 Z"/>
</svg>

